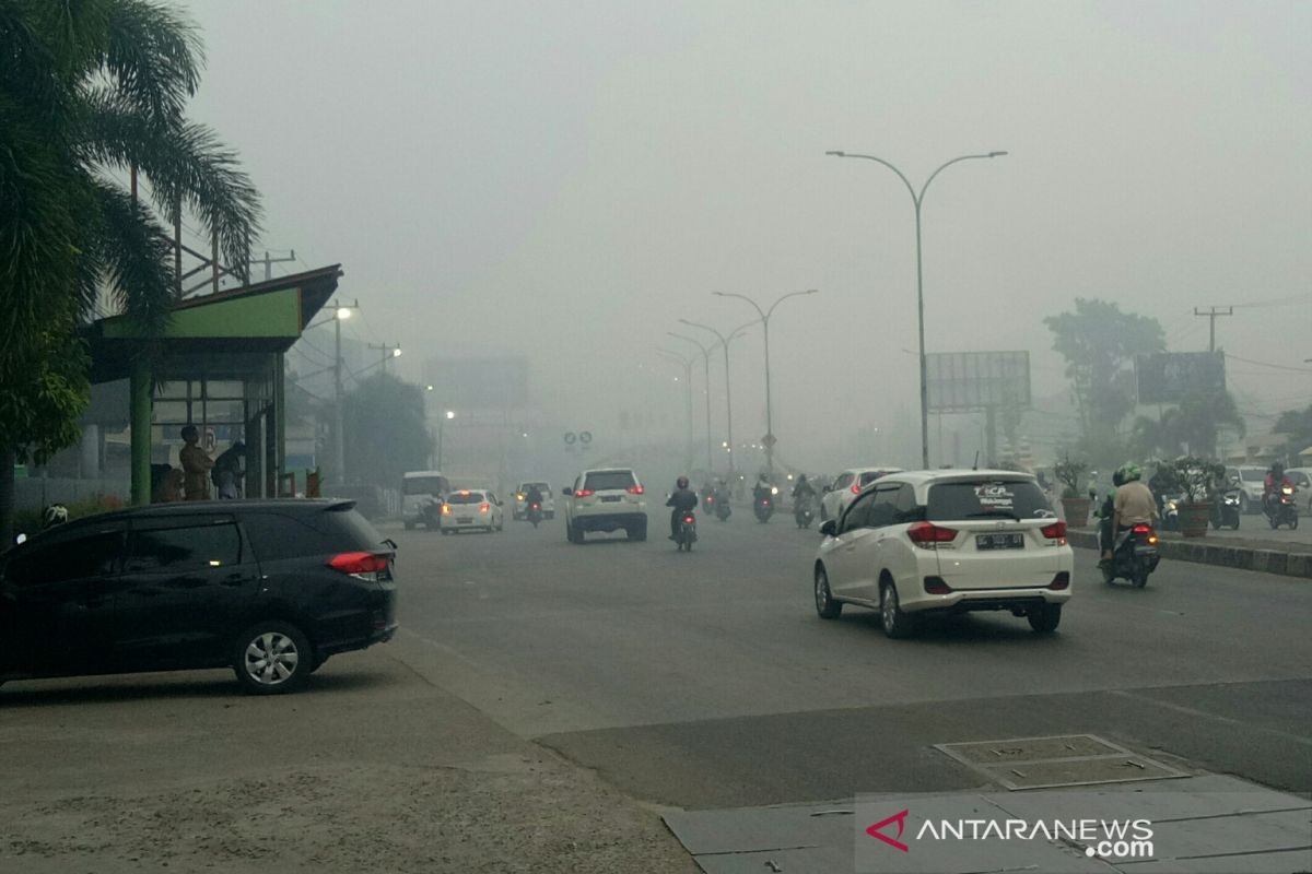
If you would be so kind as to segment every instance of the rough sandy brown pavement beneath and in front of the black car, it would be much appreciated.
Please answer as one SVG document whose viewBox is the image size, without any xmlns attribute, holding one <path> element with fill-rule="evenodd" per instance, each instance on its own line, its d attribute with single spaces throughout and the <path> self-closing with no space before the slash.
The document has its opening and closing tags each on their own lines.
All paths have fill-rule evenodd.
<svg viewBox="0 0 1312 874">
<path fill-rule="evenodd" d="M 230 672 L 0 691 L 0 871 L 672 871 L 655 810 L 429 683 L 405 636 L 295 696 Z"/>
</svg>

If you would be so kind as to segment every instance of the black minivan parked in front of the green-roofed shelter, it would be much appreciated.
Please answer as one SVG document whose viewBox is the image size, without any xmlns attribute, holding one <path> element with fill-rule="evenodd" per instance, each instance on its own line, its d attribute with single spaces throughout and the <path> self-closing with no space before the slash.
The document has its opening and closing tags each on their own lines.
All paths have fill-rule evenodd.
<svg viewBox="0 0 1312 874">
<path fill-rule="evenodd" d="M 232 667 L 291 692 L 396 632 L 395 544 L 352 501 L 167 503 L 0 554 L 0 683 Z"/>
</svg>

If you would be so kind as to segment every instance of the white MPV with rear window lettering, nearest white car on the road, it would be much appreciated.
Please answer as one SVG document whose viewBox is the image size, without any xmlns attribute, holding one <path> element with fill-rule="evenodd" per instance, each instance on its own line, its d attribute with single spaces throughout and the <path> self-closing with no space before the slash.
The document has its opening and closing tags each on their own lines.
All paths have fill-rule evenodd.
<svg viewBox="0 0 1312 874">
<path fill-rule="evenodd" d="M 1035 478 L 1012 470 L 914 470 L 872 482 L 820 527 L 815 604 L 880 612 L 888 637 L 922 616 L 1010 611 L 1052 632 L 1075 554 Z"/>
</svg>

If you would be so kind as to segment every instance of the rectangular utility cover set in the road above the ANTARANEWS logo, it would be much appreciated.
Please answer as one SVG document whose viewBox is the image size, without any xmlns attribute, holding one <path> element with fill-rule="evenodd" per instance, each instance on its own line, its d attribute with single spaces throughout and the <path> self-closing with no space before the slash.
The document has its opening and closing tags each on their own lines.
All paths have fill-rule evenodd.
<svg viewBox="0 0 1312 874">
<path fill-rule="evenodd" d="M 1092 734 L 939 743 L 947 753 L 1006 789 L 1051 789 L 1187 777 Z"/>
</svg>

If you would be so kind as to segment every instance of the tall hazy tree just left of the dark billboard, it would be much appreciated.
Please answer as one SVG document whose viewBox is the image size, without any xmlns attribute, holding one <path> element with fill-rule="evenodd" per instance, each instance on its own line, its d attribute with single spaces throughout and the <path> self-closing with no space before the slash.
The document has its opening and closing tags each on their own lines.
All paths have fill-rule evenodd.
<svg viewBox="0 0 1312 874">
<path fill-rule="evenodd" d="M 1043 324 L 1052 332 L 1054 351 L 1067 362 L 1089 457 L 1117 457 L 1120 423 L 1135 409 L 1131 364 L 1135 355 L 1166 349 L 1161 325 L 1086 297 L 1076 297 L 1075 312 L 1050 316 Z"/>
</svg>

